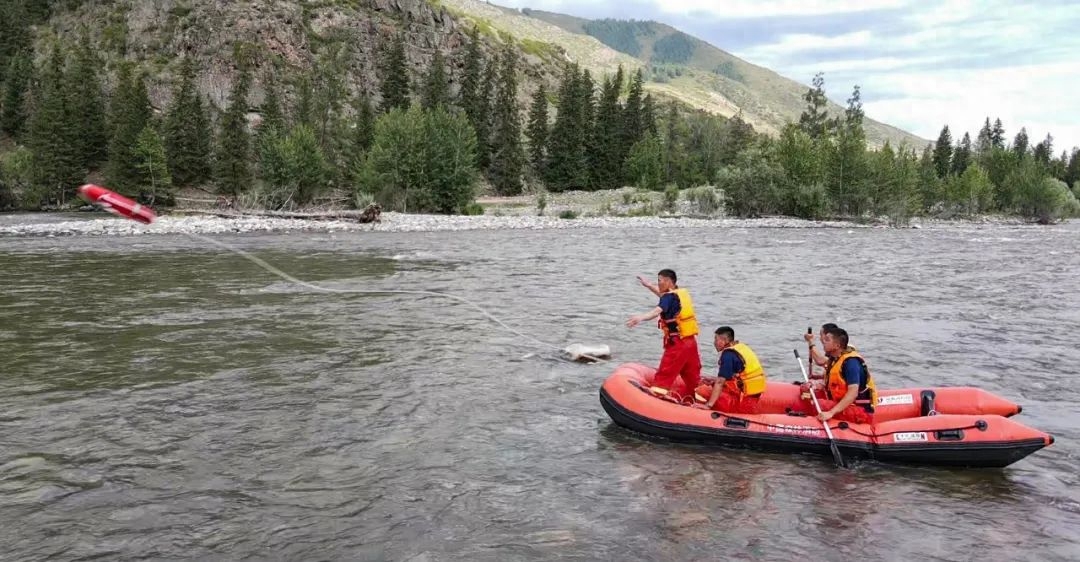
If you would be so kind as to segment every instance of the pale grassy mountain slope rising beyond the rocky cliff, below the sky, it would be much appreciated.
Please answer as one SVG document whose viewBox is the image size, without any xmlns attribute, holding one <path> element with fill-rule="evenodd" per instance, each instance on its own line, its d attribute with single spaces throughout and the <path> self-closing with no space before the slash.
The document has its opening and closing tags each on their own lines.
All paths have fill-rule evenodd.
<svg viewBox="0 0 1080 562">
<path fill-rule="evenodd" d="M 761 132 L 778 133 L 786 122 L 797 121 L 806 106 L 802 95 L 809 86 L 665 24 L 589 21 L 480 0 L 440 2 L 505 32 L 565 46 L 571 59 L 594 72 L 613 72 L 620 64 L 627 69 L 645 68 L 648 90 L 724 116 L 742 111 L 742 118 Z M 841 115 L 843 108 L 831 102 L 828 111 Z M 929 143 L 872 119 L 866 119 L 865 129 L 872 146 L 886 140 L 913 147 Z"/>
</svg>

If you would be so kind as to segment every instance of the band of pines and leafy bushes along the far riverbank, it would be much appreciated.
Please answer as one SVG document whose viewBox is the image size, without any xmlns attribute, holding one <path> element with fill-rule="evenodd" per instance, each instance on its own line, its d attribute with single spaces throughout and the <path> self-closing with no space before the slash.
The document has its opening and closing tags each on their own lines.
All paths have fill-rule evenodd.
<svg viewBox="0 0 1080 562">
<path fill-rule="evenodd" d="M 350 50 L 359 49 L 348 42 L 321 44 L 310 68 L 281 66 L 260 45 L 238 43 L 221 109 L 198 86 L 200 63 L 177 57 L 167 65 L 171 99 L 156 108 L 147 78 L 163 69 L 126 54 L 103 61 L 90 35 L 37 38 L 52 14 L 24 3 L 3 22 L 22 32 L 0 38 L 0 209 L 70 210 L 81 204 L 78 186 L 92 182 L 164 213 L 191 212 L 184 199 L 194 191 L 239 209 L 294 213 L 377 203 L 424 215 L 524 216 L 532 208 L 564 219 L 781 216 L 892 226 L 1080 215 L 1080 150 L 1057 157 L 1051 136 L 1031 143 L 1025 129 L 1009 144 L 1001 121 L 989 118 L 974 140 L 964 133 L 954 142 L 946 126 L 924 147 L 869 147 L 859 86 L 841 115 L 829 115 L 820 73 L 798 122 L 770 137 L 738 115 L 653 98 L 640 70 L 594 77 L 567 63 L 557 89 L 527 92 L 519 41 L 474 28 L 459 50 L 436 49 L 420 69 L 395 32 L 379 46 L 374 91 L 346 80 Z M 462 61 L 455 80 L 444 56 Z M 265 94 L 258 105 L 255 83 Z M 559 202 L 577 192 L 615 195 L 581 209 Z M 522 196 L 534 202 L 508 203 Z"/>
</svg>

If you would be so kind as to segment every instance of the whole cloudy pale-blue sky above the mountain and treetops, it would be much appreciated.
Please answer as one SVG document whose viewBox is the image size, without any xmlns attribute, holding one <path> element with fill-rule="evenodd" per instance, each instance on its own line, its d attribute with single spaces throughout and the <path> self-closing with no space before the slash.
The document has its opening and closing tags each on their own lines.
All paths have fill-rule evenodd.
<svg viewBox="0 0 1080 562">
<path fill-rule="evenodd" d="M 1000 117 L 1010 140 L 1080 146 L 1080 0 L 492 0 L 581 17 L 656 19 L 924 138 Z"/>
</svg>

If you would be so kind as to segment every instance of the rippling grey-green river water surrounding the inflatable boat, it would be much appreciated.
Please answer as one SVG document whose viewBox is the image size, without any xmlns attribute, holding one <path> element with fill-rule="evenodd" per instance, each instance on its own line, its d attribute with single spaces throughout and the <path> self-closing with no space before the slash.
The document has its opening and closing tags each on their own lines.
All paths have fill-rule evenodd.
<svg viewBox="0 0 1080 562">
<path fill-rule="evenodd" d="M 1076 222 L 216 239 L 645 363 L 634 277 L 672 267 L 773 377 L 836 321 L 879 386 L 980 386 L 1056 443 L 996 470 L 675 445 L 610 422 L 613 364 L 453 300 L 183 236 L 0 238 L 0 559 L 1080 558 Z"/>
</svg>

